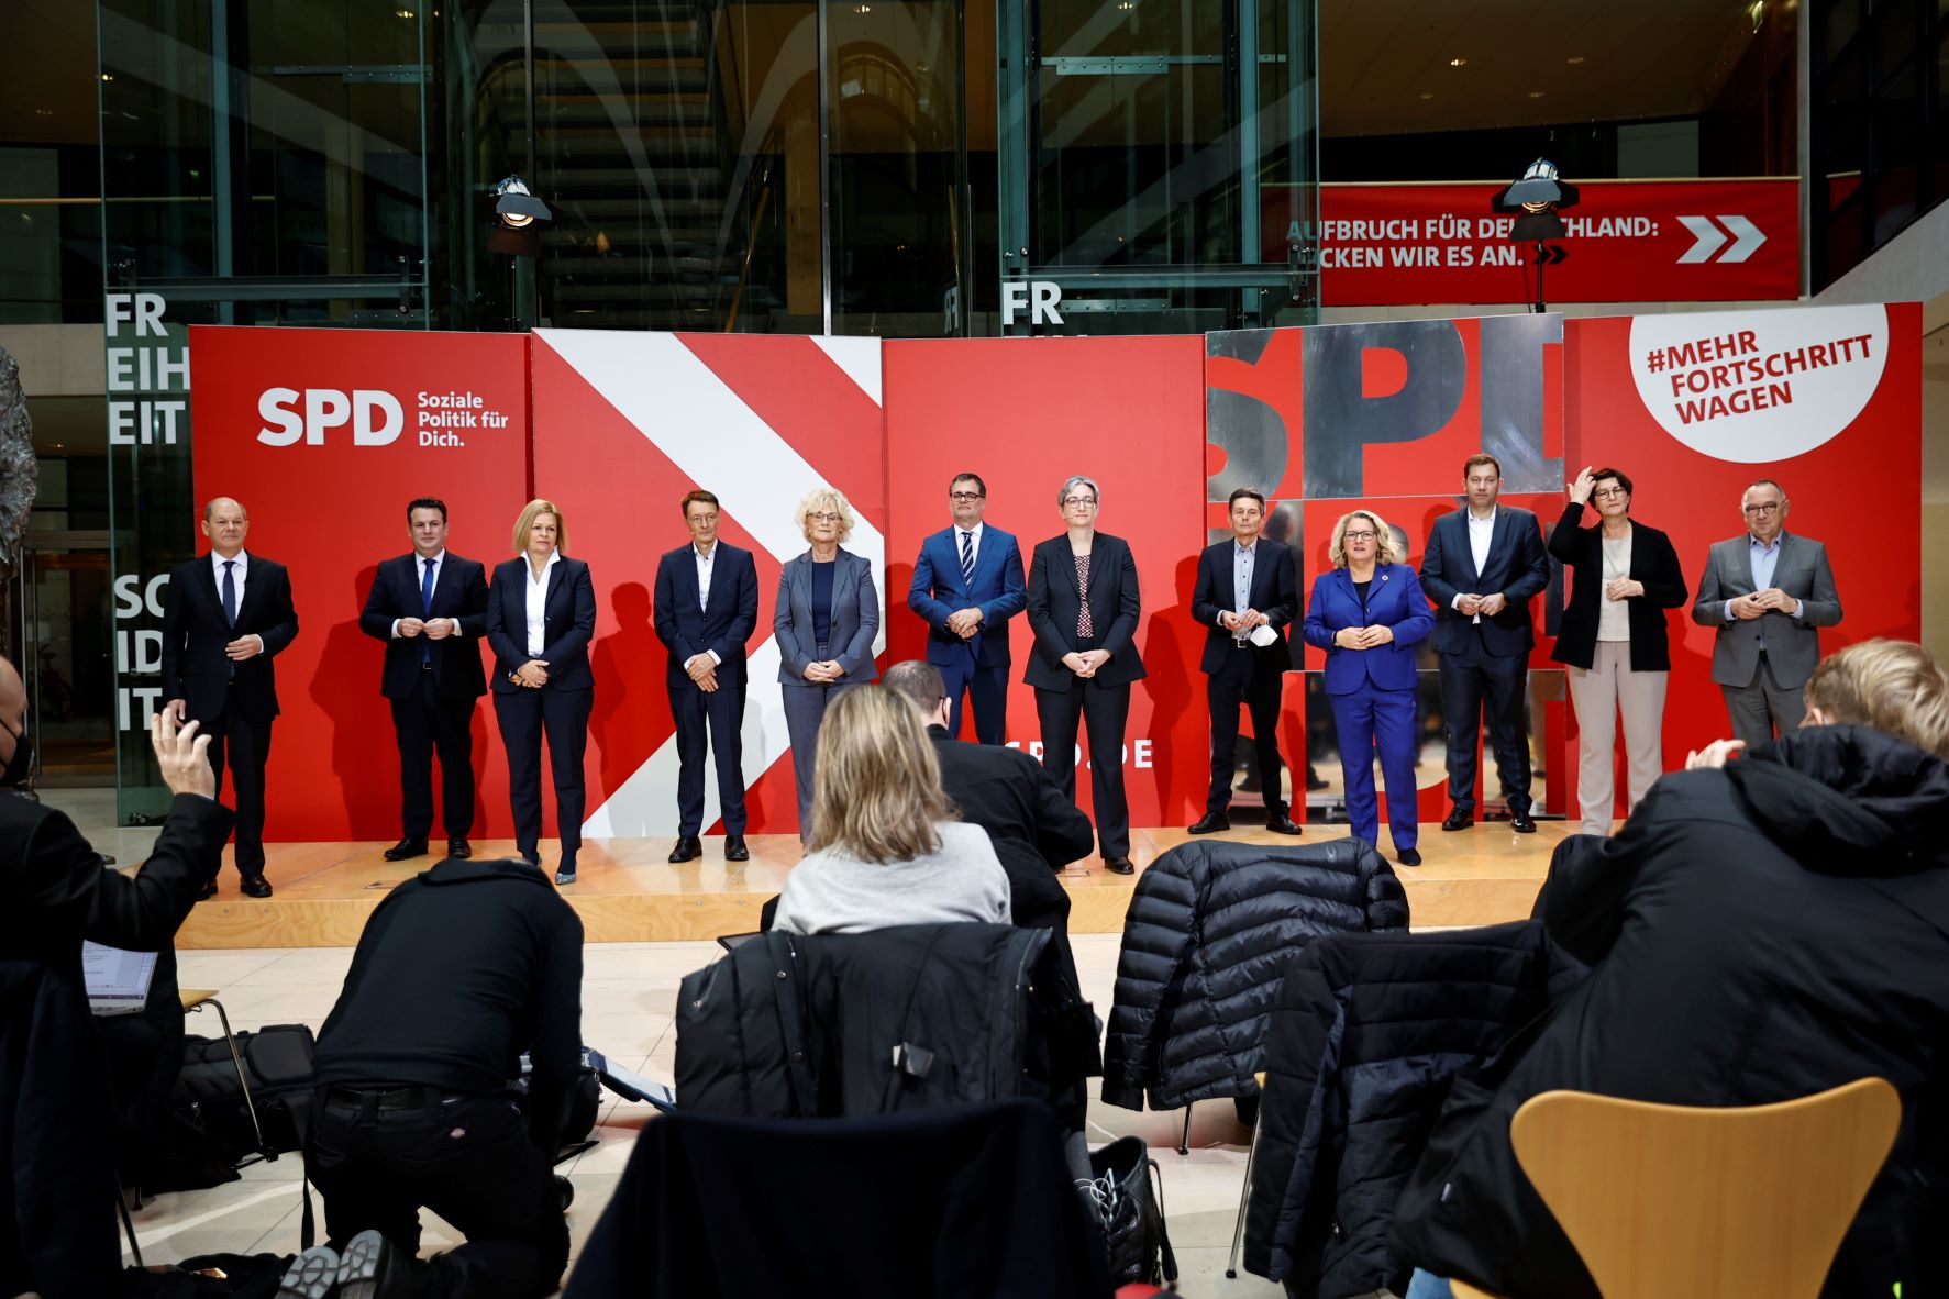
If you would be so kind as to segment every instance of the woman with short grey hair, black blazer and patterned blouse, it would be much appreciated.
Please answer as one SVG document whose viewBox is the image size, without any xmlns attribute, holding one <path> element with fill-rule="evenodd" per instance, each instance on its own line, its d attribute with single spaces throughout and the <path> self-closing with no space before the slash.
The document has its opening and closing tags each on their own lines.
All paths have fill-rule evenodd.
<svg viewBox="0 0 1949 1299">
<path fill-rule="evenodd" d="M 1095 530 L 1095 479 L 1072 477 L 1056 493 L 1068 526 L 1035 547 L 1029 563 L 1029 629 L 1035 652 L 1021 680 L 1035 687 L 1043 723 L 1043 771 L 1076 797 L 1076 724 L 1089 726 L 1089 785 L 1103 869 L 1130 874 L 1130 804 L 1123 797 L 1123 726 L 1136 654 L 1136 561 L 1130 543 Z"/>
</svg>

